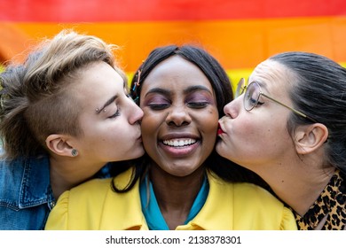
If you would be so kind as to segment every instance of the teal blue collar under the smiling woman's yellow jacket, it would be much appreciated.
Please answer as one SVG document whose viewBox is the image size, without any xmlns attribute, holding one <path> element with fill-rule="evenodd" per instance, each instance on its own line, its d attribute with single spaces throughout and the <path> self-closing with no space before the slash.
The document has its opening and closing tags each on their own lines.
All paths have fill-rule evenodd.
<svg viewBox="0 0 346 248">
<path fill-rule="evenodd" d="M 208 197 L 208 191 L 209 183 L 207 180 L 207 176 L 205 176 L 201 186 L 201 190 L 197 194 L 197 197 L 194 199 L 193 206 L 184 224 L 193 220 L 197 213 L 200 212 Z M 145 180 L 141 182 L 139 186 L 139 193 L 142 212 L 145 215 L 145 221 L 148 225 L 148 228 L 151 230 L 169 230 L 169 227 L 162 216 L 160 207 L 153 192 L 153 184 L 149 181 L 148 176 L 146 176 Z"/>
</svg>

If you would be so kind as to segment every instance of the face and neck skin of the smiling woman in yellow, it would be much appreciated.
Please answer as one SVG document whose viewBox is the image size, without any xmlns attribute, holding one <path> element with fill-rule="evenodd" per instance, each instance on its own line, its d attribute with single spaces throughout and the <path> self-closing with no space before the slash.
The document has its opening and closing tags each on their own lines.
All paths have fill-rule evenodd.
<svg viewBox="0 0 346 248">
<path fill-rule="evenodd" d="M 197 66 L 174 56 L 147 76 L 140 107 L 143 144 L 153 159 L 153 190 L 169 229 L 176 229 L 201 189 L 203 163 L 216 143 L 216 97 Z"/>
</svg>

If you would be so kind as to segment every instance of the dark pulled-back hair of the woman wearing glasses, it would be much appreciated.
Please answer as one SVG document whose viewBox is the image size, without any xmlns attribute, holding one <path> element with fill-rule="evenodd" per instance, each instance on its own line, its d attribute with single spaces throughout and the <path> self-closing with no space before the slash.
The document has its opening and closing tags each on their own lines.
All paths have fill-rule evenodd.
<svg viewBox="0 0 346 248">
<path fill-rule="evenodd" d="M 291 51 L 270 58 L 286 66 L 294 75 L 290 92 L 293 105 L 328 128 L 326 166 L 346 174 L 346 70 L 333 60 L 318 54 Z M 310 120 L 292 114 L 287 128 Z"/>
</svg>

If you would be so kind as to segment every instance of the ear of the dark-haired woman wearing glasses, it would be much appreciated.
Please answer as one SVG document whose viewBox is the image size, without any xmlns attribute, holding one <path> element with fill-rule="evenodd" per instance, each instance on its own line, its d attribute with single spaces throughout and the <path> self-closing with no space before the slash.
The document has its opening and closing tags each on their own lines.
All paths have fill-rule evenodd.
<svg viewBox="0 0 346 248">
<path fill-rule="evenodd" d="M 295 131 L 295 150 L 298 154 L 316 151 L 328 138 L 328 128 L 321 123 L 302 126 Z"/>
</svg>

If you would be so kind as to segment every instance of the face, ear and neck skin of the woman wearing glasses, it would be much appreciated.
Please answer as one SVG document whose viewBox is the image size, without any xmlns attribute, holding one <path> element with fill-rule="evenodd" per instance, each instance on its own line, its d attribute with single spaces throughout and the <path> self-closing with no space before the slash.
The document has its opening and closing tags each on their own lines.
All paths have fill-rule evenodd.
<svg viewBox="0 0 346 248">
<path fill-rule="evenodd" d="M 260 82 L 264 94 L 293 106 L 288 93 L 295 77 L 286 66 L 265 60 L 249 81 Z M 287 120 L 293 113 L 289 109 L 260 97 L 263 105 L 248 112 L 243 96 L 224 106 L 216 151 L 262 176 L 279 198 L 303 215 L 334 174 L 333 167 L 324 166 L 327 134 L 320 131 L 321 124 L 314 123 L 290 135 Z"/>
</svg>

